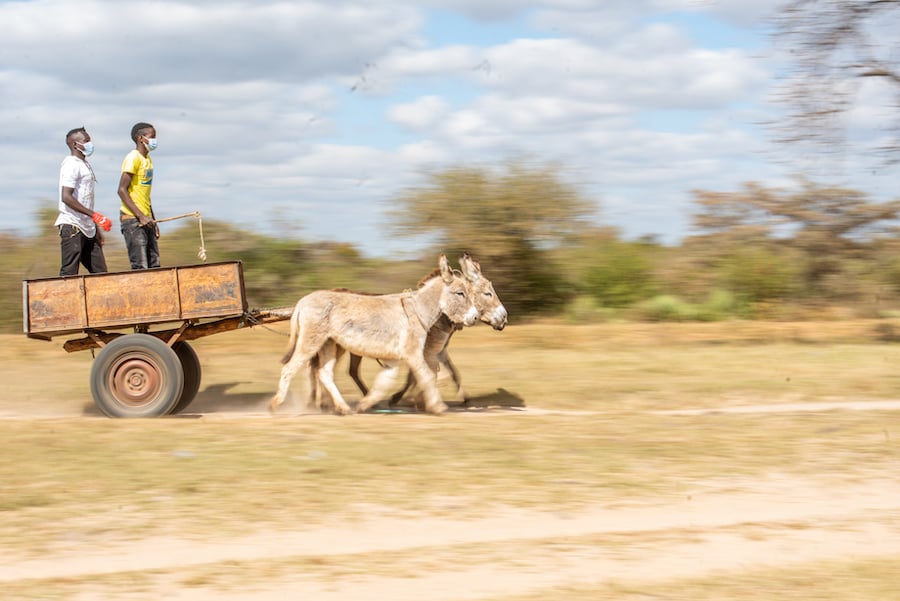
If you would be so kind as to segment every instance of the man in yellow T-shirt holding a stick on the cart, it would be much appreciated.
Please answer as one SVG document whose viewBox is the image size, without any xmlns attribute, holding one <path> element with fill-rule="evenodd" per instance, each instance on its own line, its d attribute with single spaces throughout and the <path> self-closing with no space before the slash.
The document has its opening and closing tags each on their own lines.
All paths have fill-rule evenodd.
<svg viewBox="0 0 900 601">
<path fill-rule="evenodd" d="M 159 267 L 159 227 L 153 215 L 150 191 L 153 187 L 153 160 L 156 128 L 149 123 L 135 123 L 131 128 L 134 150 L 122 161 L 119 178 L 119 207 L 122 236 L 132 269 Z"/>
</svg>

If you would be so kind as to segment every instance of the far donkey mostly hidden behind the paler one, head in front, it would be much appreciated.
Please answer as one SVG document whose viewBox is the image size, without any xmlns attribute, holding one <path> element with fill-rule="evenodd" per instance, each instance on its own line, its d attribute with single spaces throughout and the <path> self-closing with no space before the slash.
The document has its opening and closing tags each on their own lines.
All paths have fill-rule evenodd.
<svg viewBox="0 0 900 601">
<path fill-rule="evenodd" d="M 493 283 L 481 273 L 481 264 L 468 254 L 464 254 L 459 259 L 459 267 L 472 286 L 473 300 L 475 307 L 478 309 L 479 319 L 484 323 L 490 324 L 495 330 L 503 330 L 506 327 L 508 316 L 506 307 L 503 306 L 503 303 L 500 302 L 500 297 L 494 291 Z M 462 324 L 454 322 L 445 314 L 441 314 L 435 324 L 431 326 L 431 329 L 428 330 L 424 353 L 425 362 L 428 363 L 428 367 L 432 371 L 438 373 L 439 369 L 446 369 L 449 372 L 453 383 L 456 385 L 455 400 L 465 405 L 468 399 L 462 387 L 459 371 L 453 365 L 453 362 L 450 360 L 450 354 L 447 352 L 450 338 L 462 327 Z M 340 351 L 338 351 L 338 355 L 340 355 Z M 361 357 L 359 355 L 350 354 L 350 377 L 365 395 L 368 393 L 368 389 L 359 376 L 360 361 Z M 410 371 L 406 376 L 406 384 L 403 388 L 391 396 L 390 406 L 396 405 L 413 384 L 415 384 L 415 376 Z"/>
</svg>

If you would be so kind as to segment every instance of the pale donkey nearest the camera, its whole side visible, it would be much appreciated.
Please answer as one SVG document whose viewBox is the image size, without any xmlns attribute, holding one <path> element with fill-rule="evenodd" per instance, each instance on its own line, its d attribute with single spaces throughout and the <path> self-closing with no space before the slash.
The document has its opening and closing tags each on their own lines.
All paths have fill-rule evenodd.
<svg viewBox="0 0 900 601">
<path fill-rule="evenodd" d="M 438 268 L 439 277 L 413 292 L 372 296 L 317 290 L 301 298 L 291 314 L 290 347 L 282 359 L 284 367 L 271 410 L 284 402 L 297 370 L 318 355 L 317 379 L 331 394 L 335 411 L 352 413 L 334 384 L 334 363 L 340 347 L 378 359 L 391 368 L 379 374 L 375 387 L 360 401 L 359 411 L 381 400 L 387 377 L 384 374 L 406 363 L 424 390 L 426 410 L 443 413 L 447 405 L 424 358 L 426 336 L 441 314 L 472 325 L 478 319 L 478 310 L 468 280 L 450 269 L 443 254 Z"/>
</svg>

